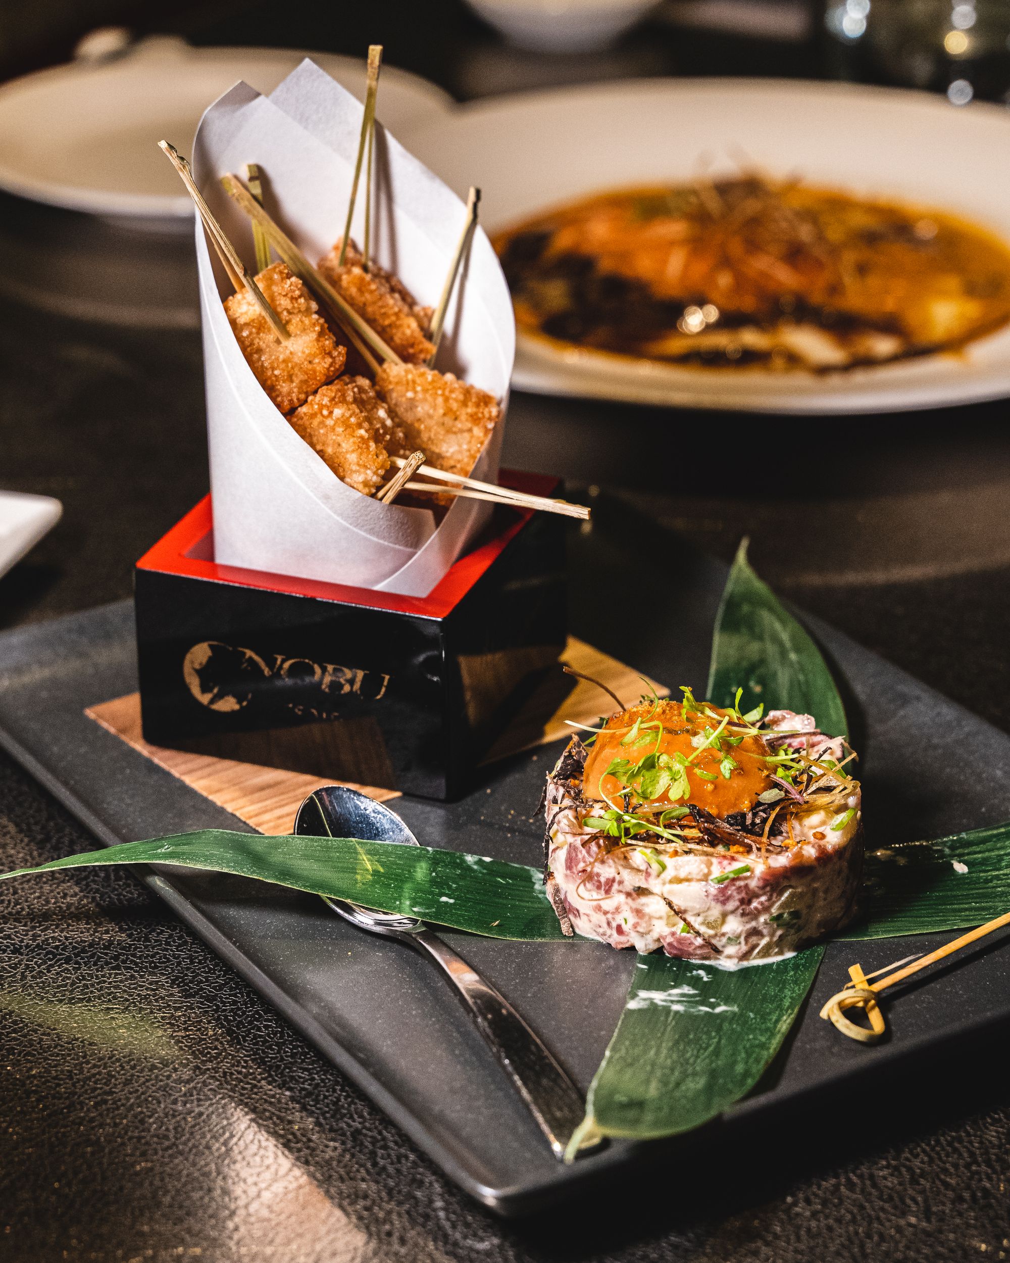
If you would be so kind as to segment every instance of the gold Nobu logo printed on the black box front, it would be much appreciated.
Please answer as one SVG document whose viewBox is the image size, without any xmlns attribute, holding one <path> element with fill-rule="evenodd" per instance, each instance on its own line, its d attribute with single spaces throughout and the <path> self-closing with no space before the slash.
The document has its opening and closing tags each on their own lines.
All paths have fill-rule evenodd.
<svg viewBox="0 0 1010 1263">
<path fill-rule="evenodd" d="M 341 667 L 333 662 L 288 658 L 283 653 L 261 657 L 254 649 L 223 644 L 221 640 L 201 640 L 194 644 L 183 658 L 182 677 L 201 706 L 225 715 L 247 706 L 252 696 L 271 679 L 300 686 L 302 697 L 308 688 L 309 692 L 318 690 L 331 697 L 355 693 L 370 701 L 379 701 L 390 681 L 381 672 Z M 300 711 L 302 706 L 295 710 Z"/>
</svg>

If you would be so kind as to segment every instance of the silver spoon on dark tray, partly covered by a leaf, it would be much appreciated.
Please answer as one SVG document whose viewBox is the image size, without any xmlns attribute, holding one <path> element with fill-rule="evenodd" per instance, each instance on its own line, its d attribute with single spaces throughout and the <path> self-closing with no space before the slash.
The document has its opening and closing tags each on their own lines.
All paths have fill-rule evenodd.
<svg viewBox="0 0 1010 1263">
<path fill-rule="evenodd" d="M 362 841 L 419 845 L 389 807 L 345 786 L 327 786 L 309 794 L 298 808 L 294 831 L 314 837 L 359 837 Z M 422 954 L 427 952 L 441 966 L 547 1137 L 554 1156 L 563 1157 L 585 1114 L 582 1095 L 505 997 L 432 933 L 423 921 L 372 912 L 342 899 L 323 897 L 323 902 L 351 925 L 409 943 Z"/>
</svg>

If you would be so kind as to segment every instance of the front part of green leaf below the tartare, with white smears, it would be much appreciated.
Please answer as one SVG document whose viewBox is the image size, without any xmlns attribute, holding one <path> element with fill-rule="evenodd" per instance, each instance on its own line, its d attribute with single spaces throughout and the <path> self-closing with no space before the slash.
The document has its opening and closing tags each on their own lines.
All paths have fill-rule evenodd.
<svg viewBox="0 0 1010 1263">
<path fill-rule="evenodd" d="M 789 1033 L 823 947 L 723 970 L 639 956 L 621 1021 L 590 1087 L 605 1135 L 675 1135 L 721 1114 L 758 1082 Z"/>
</svg>

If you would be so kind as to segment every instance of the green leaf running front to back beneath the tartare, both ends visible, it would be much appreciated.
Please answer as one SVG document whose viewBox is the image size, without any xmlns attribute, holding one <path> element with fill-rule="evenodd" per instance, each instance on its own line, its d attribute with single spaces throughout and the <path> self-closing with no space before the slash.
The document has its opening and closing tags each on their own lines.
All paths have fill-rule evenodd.
<svg viewBox="0 0 1010 1263">
<path fill-rule="evenodd" d="M 821 652 L 751 570 L 746 539 L 716 616 L 707 697 L 732 706 L 737 690 L 744 712 L 794 710 L 832 736 L 848 733 Z M 823 947 L 812 947 L 735 971 L 640 956 L 579 1135 L 672 1135 L 739 1100 L 778 1052 L 822 956 Z"/>
</svg>

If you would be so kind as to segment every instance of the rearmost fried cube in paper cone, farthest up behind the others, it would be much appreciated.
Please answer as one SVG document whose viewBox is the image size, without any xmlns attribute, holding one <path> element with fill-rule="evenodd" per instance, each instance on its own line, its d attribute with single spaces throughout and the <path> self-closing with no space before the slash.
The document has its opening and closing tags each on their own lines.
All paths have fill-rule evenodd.
<svg viewBox="0 0 1010 1263">
<path fill-rule="evenodd" d="M 357 314 L 408 364 L 423 364 L 434 351 L 425 337 L 432 308 L 422 307 L 393 273 L 364 259 L 354 241 L 340 264 L 341 241 L 319 259 L 319 272 Z"/>
</svg>

